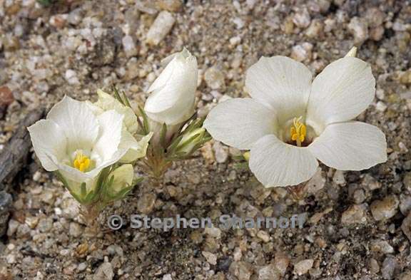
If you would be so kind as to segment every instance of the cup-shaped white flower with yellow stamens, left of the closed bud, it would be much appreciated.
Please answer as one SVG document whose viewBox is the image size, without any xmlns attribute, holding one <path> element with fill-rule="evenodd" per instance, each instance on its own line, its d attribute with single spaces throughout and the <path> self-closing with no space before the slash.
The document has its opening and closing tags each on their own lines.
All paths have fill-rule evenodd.
<svg viewBox="0 0 411 280">
<path fill-rule="evenodd" d="M 81 185 L 85 183 L 86 194 L 95 190 L 101 170 L 118 162 L 136 142 L 123 137 L 123 120 L 116 110 L 96 115 L 86 103 L 65 96 L 46 120 L 28 129 L 44 169 L 58 171 L 71 193 L 83 196 Z"/>
</svg>

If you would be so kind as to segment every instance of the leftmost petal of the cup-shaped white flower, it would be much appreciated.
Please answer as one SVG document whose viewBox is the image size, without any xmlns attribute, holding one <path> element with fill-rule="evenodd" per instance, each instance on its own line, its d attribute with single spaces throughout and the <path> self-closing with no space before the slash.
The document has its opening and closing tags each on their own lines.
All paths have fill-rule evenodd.
<svg viewBox="0 0 411 280">
<path fill-rule="evenodd" d="M 27 129 L 41 165 L 47 171 L 57 170 L 50 155 L 54 155 L 57 162 L 66 157 L 67 140 L 64 131 L 53 120 L 39 120 Z"/>
</svg>

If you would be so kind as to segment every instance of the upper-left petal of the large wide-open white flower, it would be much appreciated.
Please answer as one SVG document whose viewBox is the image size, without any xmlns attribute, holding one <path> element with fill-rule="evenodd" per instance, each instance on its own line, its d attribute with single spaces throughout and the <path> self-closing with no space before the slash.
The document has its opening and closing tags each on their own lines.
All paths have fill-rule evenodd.
<svg viewBox="0 0 411 280">
<path fill-rule="evenodd" d="M 278 113 L 280 123 L 305 114 L 312 81 L 303 63 L 285 56 L 262 57 L 245 77 L 250 95 Z"/>
</svg>

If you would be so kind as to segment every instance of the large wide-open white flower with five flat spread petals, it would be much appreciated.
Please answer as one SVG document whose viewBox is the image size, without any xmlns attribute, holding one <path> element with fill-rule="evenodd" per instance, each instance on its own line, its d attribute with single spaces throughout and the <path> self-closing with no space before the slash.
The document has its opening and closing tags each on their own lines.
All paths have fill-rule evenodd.
<svg viewBox="0 0 411 280">
<path fill-rule="evenodd" d="M 351 121 L 372 102 L 375 78 L 355 57 L 330 63 L 313 81 L 291 58 L 260 58 L 246 75 L 252 98 L 218 104 L 205 120 L 213 138 L 250 150 L 250 170 L 265 187 L 309 180 L 318 160 L 364 170 L 387 160 L 385 135 Z"/>
</svg>

